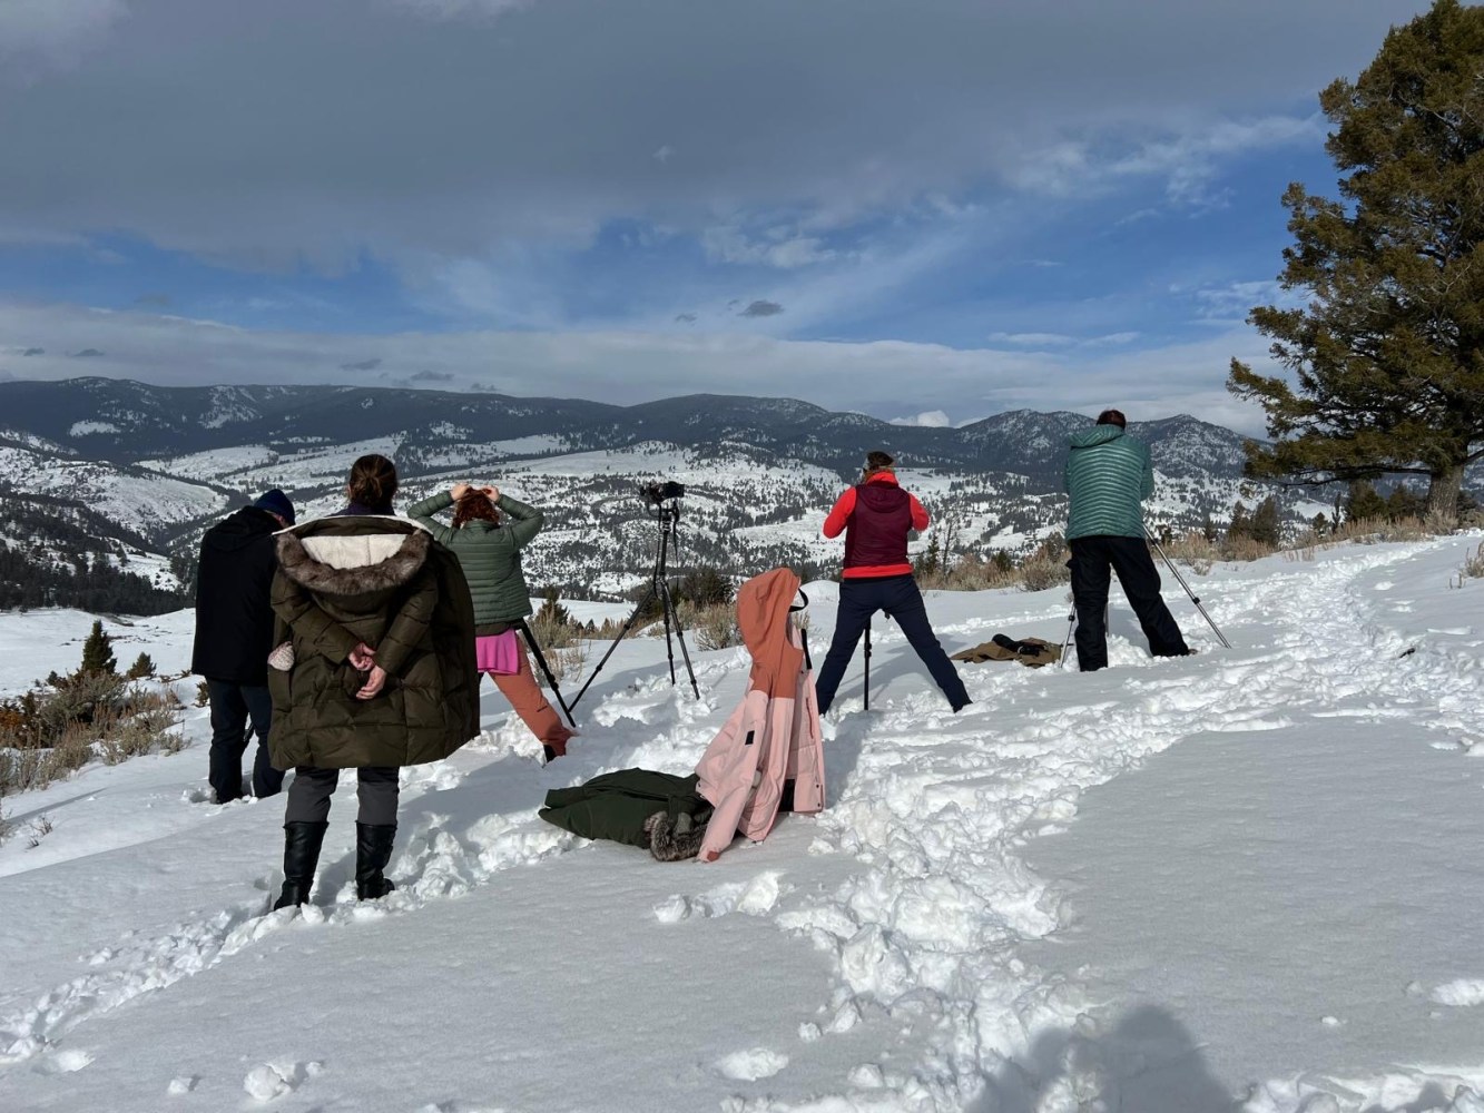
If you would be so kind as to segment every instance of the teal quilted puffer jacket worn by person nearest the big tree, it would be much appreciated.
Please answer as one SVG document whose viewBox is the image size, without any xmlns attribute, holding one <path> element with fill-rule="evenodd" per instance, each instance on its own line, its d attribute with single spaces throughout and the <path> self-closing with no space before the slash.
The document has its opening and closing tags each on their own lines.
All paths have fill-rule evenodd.
<svg viewBox="0 0 1484 1113">
<path fill-rule="evenodd" d="M 1116 424 L 1073 433 L 1064 472 L 1071 509 L 1067 540 L 1077 537 L 1143 537 L 1140 506 L 1155 493 L 1149 445 Z"/>
</svg>

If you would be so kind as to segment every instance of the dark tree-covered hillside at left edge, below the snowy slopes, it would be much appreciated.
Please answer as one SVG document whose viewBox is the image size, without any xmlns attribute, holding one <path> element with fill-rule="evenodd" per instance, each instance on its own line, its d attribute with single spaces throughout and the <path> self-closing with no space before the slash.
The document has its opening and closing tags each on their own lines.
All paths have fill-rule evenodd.
<svg viewBox="0 0 1484 1113">
<path fill-rule="evenodd" d="M 0 484 L 0 610 L 162 614 L 187 605 L 180 582 L 147 548 L 144 537 L 77 502 Z"/>
</svg>

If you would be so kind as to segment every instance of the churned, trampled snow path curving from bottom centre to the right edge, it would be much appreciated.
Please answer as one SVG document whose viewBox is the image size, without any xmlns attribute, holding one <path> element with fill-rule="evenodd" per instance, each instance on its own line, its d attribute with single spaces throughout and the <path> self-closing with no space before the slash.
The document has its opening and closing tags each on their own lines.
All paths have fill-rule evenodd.
<svg viewBox="0 0 1484 1113">
<path fill-rule="evenodd" d="M 1434 548 L 1451 554 L 1457 545 Z M 1425 647 L 1398 660 L 1407 640 L 1368 620 L 1359 582 L 1411 554 L 1347 549 L 1263 580 L 1211 585 L 1208 611 L 1236 650 L 1215 651 L 1186 608 L 1195 657 L 1152 660 L 1125 641 L 1112 653 L 1116 668 L 1101 674 L 966 669 L 975 700 L 966 714 L 982 724 L 969 745 L 947 741 L 957 720 L 936 692 L 879 720 L 850 717 L 859 699 L 841 702 L 830 754 L 837 763 L 841 751 L 853 754 L 858 767 L 831 776 L 844 792 L 821 816 L 821 838 L 867 868 L 830 901 L 781 922 L 834 956 L 837 1028 L 884 1009 L 941 1030 L 925 1063 L 862 1064 L 858 1076 L 870 1086 L 850 1094 L 856 1107 L 965 1107 L 988 1071 L 1024 1057 L 1046 1027 L 1079 1022 L 1091 1002 L 1027 966 L 1017 944 L 1060 923 L 1057 898 L 1027 871 L 1021 843 L 1066 822 L 1083 789 L 1204 732 L 1282 730 L 1306 715 L 1402 717 L 1454 741 L 1462 724 L 1478 730 L 1477 654 Z M 1071 684 L 1076 697 L 1066 695 Z"/>
</svg>

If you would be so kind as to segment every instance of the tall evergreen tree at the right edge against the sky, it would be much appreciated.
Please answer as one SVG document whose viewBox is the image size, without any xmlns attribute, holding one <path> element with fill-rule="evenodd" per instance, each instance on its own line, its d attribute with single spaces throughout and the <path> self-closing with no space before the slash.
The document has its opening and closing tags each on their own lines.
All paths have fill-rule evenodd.
<svg viewBox="0 0 1484 1113">
<path fill-rule="evenodd" d="M 1229 387 L 1267 411 L 1248 473 L 1296 482 L 1411 472 L 1456 521 L 1484 457 L 1484 6 L 1435 0 L 1392 28 L 1358 80 L 1319 95 L 1340 199 L 1294 183 L 1284 289 L 1248 318 L 1294 374 L 1232 361 Z"/>
</svg>

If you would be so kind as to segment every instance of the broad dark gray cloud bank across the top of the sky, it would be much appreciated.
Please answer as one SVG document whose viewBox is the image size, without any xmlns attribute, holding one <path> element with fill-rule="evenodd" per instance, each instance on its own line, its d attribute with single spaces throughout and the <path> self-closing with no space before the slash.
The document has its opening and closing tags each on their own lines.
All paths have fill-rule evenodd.
<svg viewBox="0 0 1484 1113">
<path fill-rule="evenodd" d="M 364 252 L 413 266 L 583 245 L 623 217 L 720 229 L 718 258 L 803 267 L 830 229 L 984 184 L 1040 196 L 1152 175 L 1211 203 L 1211 159 L 1293 141 L 1315 89 L 1425 3 L 313 7 L 0 4 L 0 40 L 91 46 L 86 65 L 21 80 L 0 64 L 0 240 L 107 227 L 334 270 Z M 791 232 L 773 240 L 778 212 Z"/>
</svg>

